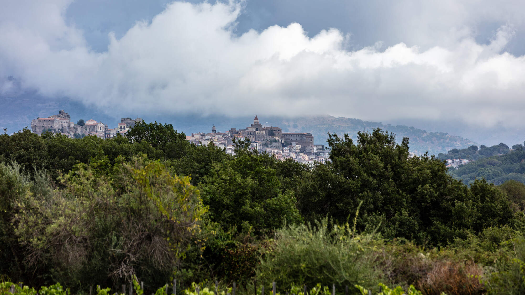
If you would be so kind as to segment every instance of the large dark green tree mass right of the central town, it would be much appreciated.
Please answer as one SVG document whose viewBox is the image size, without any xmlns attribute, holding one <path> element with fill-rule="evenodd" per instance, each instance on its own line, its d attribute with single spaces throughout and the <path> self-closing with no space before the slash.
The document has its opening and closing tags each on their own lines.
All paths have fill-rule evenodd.
<svg viewBox="0 0 525 295">
<path fill-rule="evenodd" d="M 311 222 L 330 216 L 342 224 L 363 202 L 360 230 L 379 226 L 388 239 L 430 245 L 446 245 L 470 228 L 513 224 L 497 189 L 479 182 L 470 190 L 433 156 L 408 157 L 406 138 L 396 144 L 392 134 L 375 129 L 359 132 L 356 144 L 346 134 L 328 142 L 331 162 L 315 166 L 298 188 L 299 210 Z M 490 221 L 480 224 L 482 214 Z"/>
</svg>

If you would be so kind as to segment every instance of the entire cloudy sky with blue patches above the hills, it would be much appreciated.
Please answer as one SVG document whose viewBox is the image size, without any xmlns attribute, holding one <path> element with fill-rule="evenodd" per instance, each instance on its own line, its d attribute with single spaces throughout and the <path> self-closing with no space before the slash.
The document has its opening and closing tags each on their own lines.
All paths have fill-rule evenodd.
<svg viewBox="0 0 525 295">
<path fill-rule="evenodd" d="M 520 1 L 2 5 L 0 125 L 22 100 L 108 117 L 332 114 L 487 128 L 525 111 Z"/>
</svg>

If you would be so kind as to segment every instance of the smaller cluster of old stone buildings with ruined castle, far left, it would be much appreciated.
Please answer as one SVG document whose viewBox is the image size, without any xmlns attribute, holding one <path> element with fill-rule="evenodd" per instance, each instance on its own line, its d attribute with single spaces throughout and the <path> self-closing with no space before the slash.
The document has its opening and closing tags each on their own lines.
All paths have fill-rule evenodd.
<svg viewBox="0 0 525 295">
<path fill-rule="evenodd" d="M 60 110 L 58 114 L 51 115 L 48 118 L 37 118 L 31 120 L 31 131 L 38 135 L 44 131 L 52 133 L 61 133 L 69 138 L 82 138 L 86 135 L 95 135 L 99 138 L 109 139 L 117 136 L 117 133 L 124 134 L 135 122 L 142 122 L 141 118 L 121 118 L 116 128 L 108 128 L 107 124 L 90 119 L 86 122 L 83 120 L 77 123 L 71 122 L 69 113 Z"/>
</svg>

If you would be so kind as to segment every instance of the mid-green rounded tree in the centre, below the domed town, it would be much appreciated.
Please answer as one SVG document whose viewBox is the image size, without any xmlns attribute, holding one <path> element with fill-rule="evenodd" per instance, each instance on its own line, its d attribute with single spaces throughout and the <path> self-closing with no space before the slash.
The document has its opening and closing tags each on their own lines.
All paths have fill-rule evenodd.
<svg viewBox="0 0 525 295">
<path fill-rule="evenodd" d="M 199 186 L 211 220 L 248 233 L 299 222 L 295 197 L 282 192 L 274 166 L 275 158 L 268 154 L 242 153 L 214 164 Z"/>
</svg>

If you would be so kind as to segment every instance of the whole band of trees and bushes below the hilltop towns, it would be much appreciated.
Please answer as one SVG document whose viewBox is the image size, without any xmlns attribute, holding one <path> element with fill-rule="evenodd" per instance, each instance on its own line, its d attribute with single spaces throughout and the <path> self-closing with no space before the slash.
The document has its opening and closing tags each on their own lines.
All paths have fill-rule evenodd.
<svg viewBox="0 0 525 295">
<path fill-rule="evenodd" d="M 310 167 L 245 142 L 234 156 L 191 145 L 156 122 L 110 140 L 0 135 L 0 281 L 525 291 L 519 184 L 464 185 L 379 129 L 328 143 L 331 162 Z"/>
</svg>

